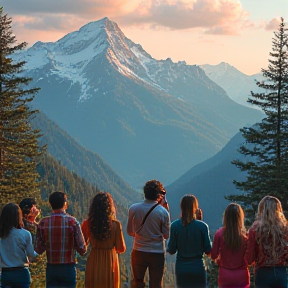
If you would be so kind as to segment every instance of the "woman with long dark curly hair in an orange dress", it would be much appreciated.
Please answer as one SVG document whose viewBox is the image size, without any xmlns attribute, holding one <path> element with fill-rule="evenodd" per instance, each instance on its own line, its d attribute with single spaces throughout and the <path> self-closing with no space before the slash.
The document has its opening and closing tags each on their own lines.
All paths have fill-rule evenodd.
<svg viewBox="0 0 288 288">
<path fill-rule="evenodd" d="M 85 272 L 86 288 L 119 288 L 120 272 L 117 253 L 126 250 L 122 225 L 109 193 L 100 192 L 92 200 L 82 231 L 91 252 Z"/>
</svg>

